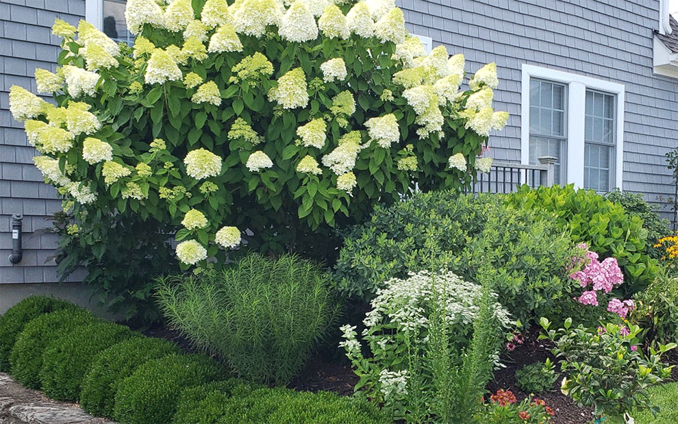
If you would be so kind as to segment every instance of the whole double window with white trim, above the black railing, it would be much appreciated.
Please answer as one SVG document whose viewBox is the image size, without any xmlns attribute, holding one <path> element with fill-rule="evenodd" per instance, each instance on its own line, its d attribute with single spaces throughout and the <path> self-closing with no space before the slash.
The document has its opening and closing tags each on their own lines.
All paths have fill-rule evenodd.
<svg viewBox="0 0 678 424">
<path fill-rule="evenodd" d="M 521 161 L 557 158 L 555 184 L 622 187 L 624 86 L 523 65 Z"/>
</svg>

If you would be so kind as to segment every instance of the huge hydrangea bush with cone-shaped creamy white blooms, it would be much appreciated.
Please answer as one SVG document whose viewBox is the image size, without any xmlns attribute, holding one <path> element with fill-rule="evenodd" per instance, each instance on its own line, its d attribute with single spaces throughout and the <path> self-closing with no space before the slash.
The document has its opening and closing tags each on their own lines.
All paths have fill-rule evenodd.
<svg viewBox="0 0 678 424">
<path fill-rule="evenodd" d="M 185 265 L 223 258 L 234 227 L 299 247 L 415 182 L 468 185 L 507 121 L 494 64 L 460 91 L 463 56 L 427 55 L 394 0 L 129 0 L 125 18 L 132 47 L 57 20 L 60 66 L 36 70 L 55 104 L 14 86 L 10 108 L 76 219 L 201 212 L 177 233 Z"/>
</svg>

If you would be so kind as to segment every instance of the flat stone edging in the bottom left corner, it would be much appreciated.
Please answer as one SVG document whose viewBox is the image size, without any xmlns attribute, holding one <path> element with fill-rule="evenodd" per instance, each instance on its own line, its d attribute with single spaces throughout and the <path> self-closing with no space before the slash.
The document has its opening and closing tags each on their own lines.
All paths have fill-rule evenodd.
<svg viewBox="0 0 678 424">
<path fill-rule="evenodd" d="M 1 424 L 115 424 L 95 418 L 73 403 L 53 401 L 0 373 Z"/>
</svg>

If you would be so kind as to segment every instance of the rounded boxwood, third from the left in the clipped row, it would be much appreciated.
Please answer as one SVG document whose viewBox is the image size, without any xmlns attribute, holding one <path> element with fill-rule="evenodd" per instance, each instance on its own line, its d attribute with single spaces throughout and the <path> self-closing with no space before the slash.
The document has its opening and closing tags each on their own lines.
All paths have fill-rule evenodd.
<svg viewBox="0 0 678 424">
<path fill-rule="evenodd" d="M 52 399 L 77 401 L 95 355 L 133 335 L 114 323 L 92 323 L 64 332 L 42 352 L 42 390 Z"/>
</svg>

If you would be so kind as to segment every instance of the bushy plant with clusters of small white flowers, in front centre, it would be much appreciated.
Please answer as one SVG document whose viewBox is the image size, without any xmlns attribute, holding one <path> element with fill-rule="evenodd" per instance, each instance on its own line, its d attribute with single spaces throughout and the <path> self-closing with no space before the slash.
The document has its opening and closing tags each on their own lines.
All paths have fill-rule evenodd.
<svg viewBox="0 0 678 424">
<path fill-rule="evenodd" d="M 410 273 L 406 279 L 385 282 L 371 301 L 372 308 L 363 321 L 361 337 L 354 325 L 340 328 L 344 340 L 339 346 L 360 377 L 356 389 L 363 388 L 370 397 L 388 406 L 403 401 L 413 384 L 414 390 L 425 391 L 434 384 L 429 369 L 433 366 L 429 363 L 429 335 L 434 331 L 429 325 L 431 315 L 442 315 L 441 321 L 451 338 L 451 351 L 458 352 L 462 358 L 472 338 L 482 292 L 479 284 L 465 282 L 451 272 L 421 271 Z M 494 293 L 491 301 L 499 336 L 514 323 Z M 365 355 L 365 351 L 369 354 Z M 418 358 L 420 375 L 416 382 L 408 379 L 408 367 L 412 365 L 408 364 L 408 358 Z M 499 364 L 499 351 L 492 360 L 495 365 Z M 429 375 L 429 379 L 422 379 L 421 375 Z"/>
</svg>

